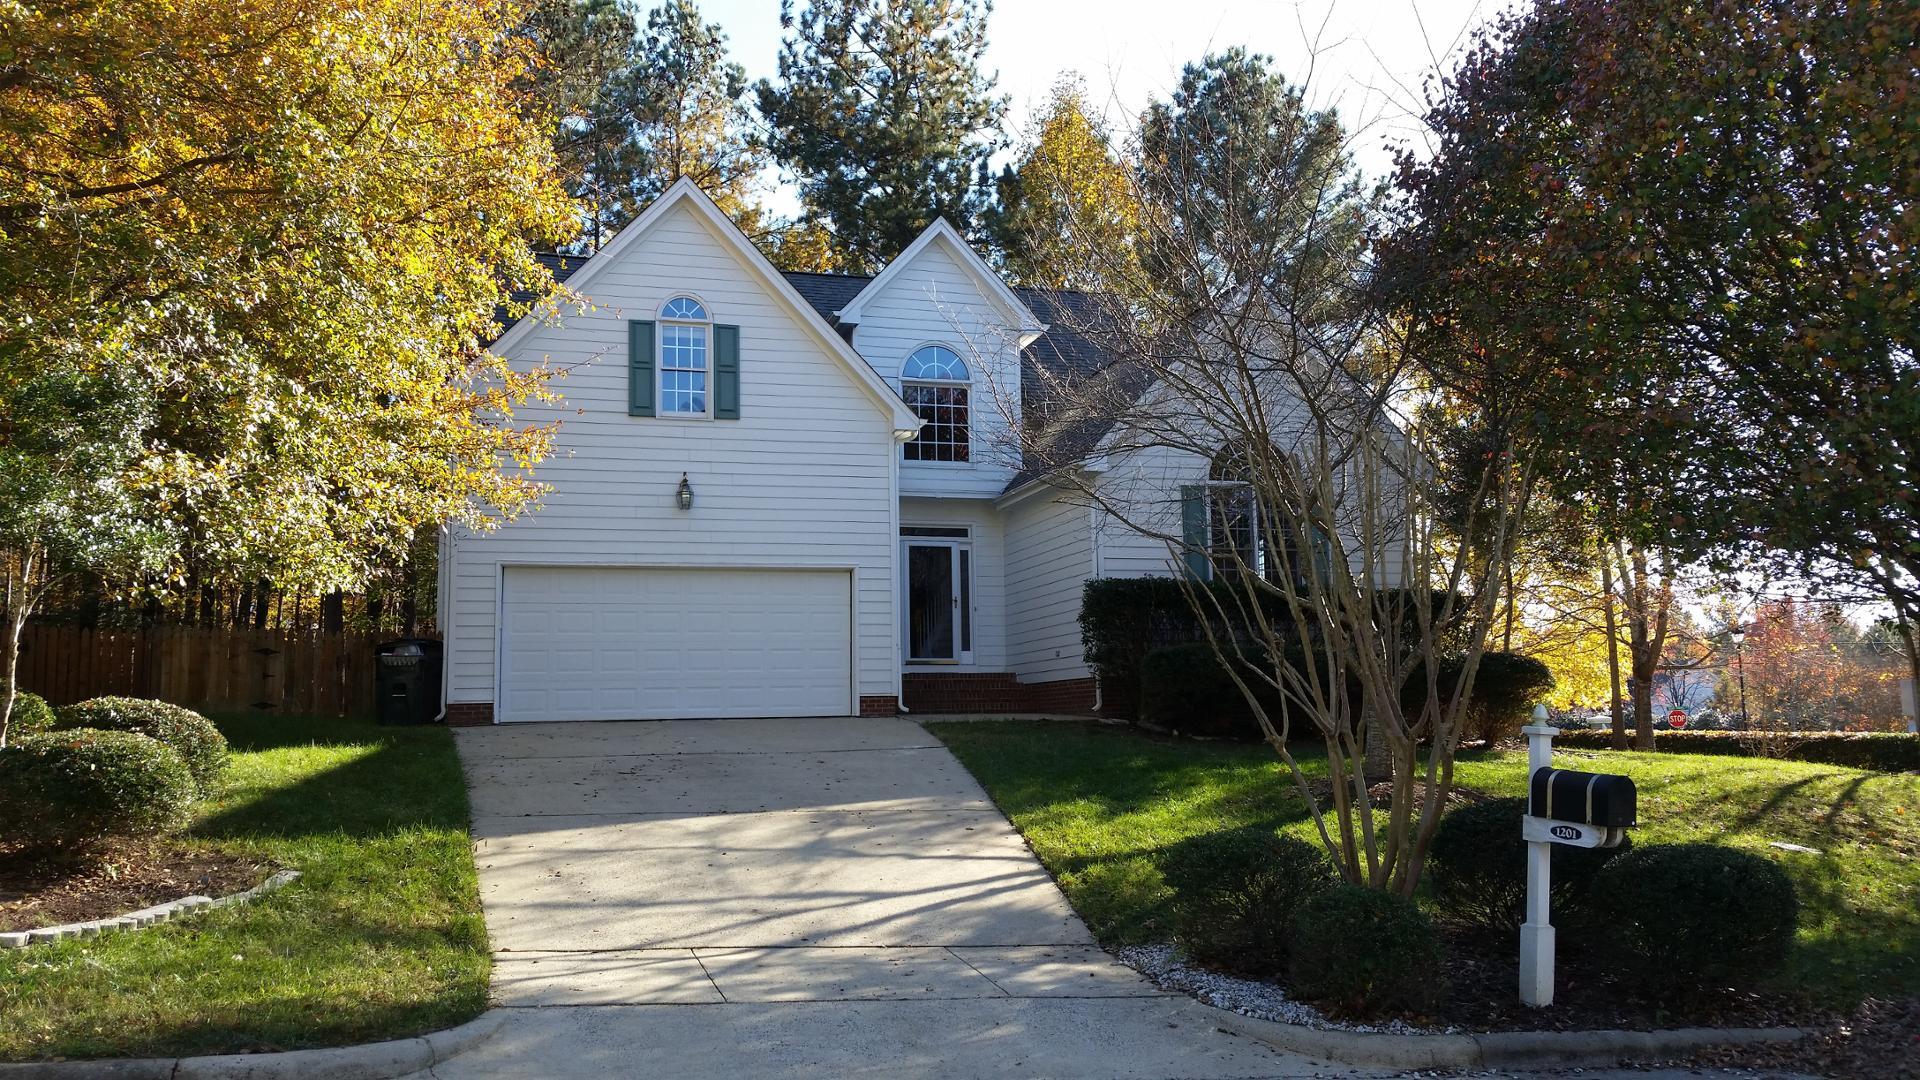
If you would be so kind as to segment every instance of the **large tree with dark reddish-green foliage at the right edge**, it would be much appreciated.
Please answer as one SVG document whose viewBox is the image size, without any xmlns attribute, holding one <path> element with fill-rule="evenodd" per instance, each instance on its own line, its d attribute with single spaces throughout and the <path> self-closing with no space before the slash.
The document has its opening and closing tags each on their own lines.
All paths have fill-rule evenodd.
<svg viewBox="0 0 1920 1080">
<path fill-rule="evenodd" d="M 1388 263 L 1415 336 L 1523 375 L 1546 475 L 1615 538 L 1870 586 L 1920 673 L 1916 33 L 1832 0 L 1496 19 Z"/>
</svg>

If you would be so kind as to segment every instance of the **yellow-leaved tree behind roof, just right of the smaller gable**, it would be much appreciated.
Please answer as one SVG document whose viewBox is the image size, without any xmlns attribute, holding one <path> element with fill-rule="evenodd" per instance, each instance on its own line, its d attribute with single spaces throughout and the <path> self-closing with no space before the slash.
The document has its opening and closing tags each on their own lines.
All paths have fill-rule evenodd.
<svg viewBox="0 0 1920 1080">
<path fill-rule="evenodd" d="M 1094 288 L 1133 271 L 1133 186 L 1077 75 L 1054 85 L 1025 156 L 1000 173 L 996 188 L 987 227 L 1014 281 Z M 1089 258 L 1100 265 L 1083 265 Z"/>
</svg>

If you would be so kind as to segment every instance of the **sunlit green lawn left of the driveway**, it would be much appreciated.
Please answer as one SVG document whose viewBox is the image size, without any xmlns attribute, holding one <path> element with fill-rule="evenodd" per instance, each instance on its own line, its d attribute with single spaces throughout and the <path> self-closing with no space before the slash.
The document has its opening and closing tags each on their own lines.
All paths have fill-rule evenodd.
<svg viewBox="0 0 1920 1080">
<path fill-rule="evenodd" d="M 0 953 L 0 1059 L 340 1045 L 486 1007 L 467 786 L 445 728 L 221 719 L 190 840 L 301 871 L 180 924 Z"/>
</svg>

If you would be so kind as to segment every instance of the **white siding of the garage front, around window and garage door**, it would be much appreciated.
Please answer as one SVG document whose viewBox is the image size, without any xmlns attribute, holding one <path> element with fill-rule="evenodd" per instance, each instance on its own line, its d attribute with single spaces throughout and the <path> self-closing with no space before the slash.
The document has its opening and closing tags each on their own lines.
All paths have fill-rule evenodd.
<svg viewBox="0 0 1920 1080">
<path fill-rule="evenodd" d="M 549 361 L 563 400 L 536 469 L 543 505 L 495 532 L 461 530 L 447 607 L 449 701 L 493 701 L 501 565 L 820 567 L 852 575 L 862 696 L 899 688 L 893 615 L 899 444 L 887 413 L 687 206 L 659 219 L 588 288 L 595 304 L 538 327 L 516 361 Z M 695 292 L 739 327 L 741 419 L 630 417 L 628 319 Z M 680 475 L 693 509 L 674 502 Z"/>
</svg>

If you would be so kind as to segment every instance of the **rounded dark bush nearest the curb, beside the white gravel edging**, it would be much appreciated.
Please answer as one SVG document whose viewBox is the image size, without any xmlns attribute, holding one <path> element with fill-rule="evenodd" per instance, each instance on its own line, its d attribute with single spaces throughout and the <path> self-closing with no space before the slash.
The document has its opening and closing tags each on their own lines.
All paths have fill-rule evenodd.
<svg viewBox="0 0 1920 1080">
<path fill-rule="evenodd" d="M 1419 1013 L 1444 988 L 1440 934 L 1411 901 L 1334 886 L 1294 917 L 1292 990 L 1350 1017 Z"/>
</svg>

